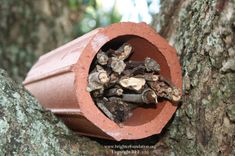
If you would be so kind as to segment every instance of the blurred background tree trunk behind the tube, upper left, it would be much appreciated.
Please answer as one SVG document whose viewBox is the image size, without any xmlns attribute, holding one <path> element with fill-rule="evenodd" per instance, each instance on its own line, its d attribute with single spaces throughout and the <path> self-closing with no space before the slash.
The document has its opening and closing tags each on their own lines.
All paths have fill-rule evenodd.
<svg viewBox="0 0 235 156">
<path fill-rule="evenodd" d="M 72 39 L 82 9 L 67 0 L 1 0 L 0 67 L 21 82 L 39 55 Z"/>
</svg>

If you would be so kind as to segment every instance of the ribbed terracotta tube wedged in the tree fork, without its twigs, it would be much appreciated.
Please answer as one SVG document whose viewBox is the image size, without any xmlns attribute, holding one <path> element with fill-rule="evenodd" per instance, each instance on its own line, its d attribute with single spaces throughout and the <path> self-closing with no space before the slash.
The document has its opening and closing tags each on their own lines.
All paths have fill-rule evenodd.
<svg viewBox="0 0 235 156">
<path fill-rule="evenodd" d="M 140 139 L 161 132 L 177 106 L 163 101 L 156 108 L 137 108 L 119 126 L 96 107 L 86 91 L 93 58 L 101 47 L 117 48 L 130 43 L 132 60 L 154 58 L 161 73 L 182 88 L 181 68 L 176 51 L 145 23 L 117 23 L 95 29 L 43 56 L 28 73 L 24 85 L 46 108 L 80 134 L 122 140 Z"/>
</svg>

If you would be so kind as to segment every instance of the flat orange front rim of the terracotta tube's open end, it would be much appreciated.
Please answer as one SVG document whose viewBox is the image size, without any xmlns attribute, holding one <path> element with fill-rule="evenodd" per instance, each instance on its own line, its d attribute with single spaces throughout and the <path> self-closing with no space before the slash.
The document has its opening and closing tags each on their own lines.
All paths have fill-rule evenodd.
<svg viewBox="0 0 235 156">
<path fill-rule="evenodd" d="M 147 24 L 123 22 L 112 24 L 105 29 L 100 28 L 98 33 L 94 35 L 94 37 L 84 49 L 86 52 L 81 54 L 79 60 L 74 65 L 73 70 L 76 74 L 75 86 L 77 88 L 76 96 L 78 98 L 80 110 L 84 117 L 99 127 L 102 131 L 113 137 L 115 140 L 140 139 L 151 136 L 153 134 L 158 134 L 161 132 L 177 109 L 177 106 L 172 105 L 169 101 L 167 101 L 158 116 L 156 116 L 150 122 L 137 126 L 123 125 L 120 127 L 115 122 L 107 118 L 95 105 L 90 94 L 86 91 L 90 64 L 98 50 L 105 43 L 119 36 L 126 35 L 134 35 L 146 39 L 156 48 L 158 48 L 165 57 L 169 68 L 174 68 L 174 70 L 170 70 L 173 84 L 182 89 L 181 68 L 176 51 L 165 41 L 165 39 L 156 34 L 155 31 Z M 97 116 L 99 116 L 99 118 L 97 118 Z M 161 125 L 155 126 L 153 122 Z"/>
</svg>

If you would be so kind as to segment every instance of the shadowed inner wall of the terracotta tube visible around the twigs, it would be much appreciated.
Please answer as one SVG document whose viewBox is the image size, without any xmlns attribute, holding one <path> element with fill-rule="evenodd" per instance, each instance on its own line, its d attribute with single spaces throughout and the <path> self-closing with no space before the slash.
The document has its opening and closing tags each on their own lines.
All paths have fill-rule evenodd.
<svg viewBox="0 0 235 156">
<path fill-rule="evenodd" d="M 162 55 L 162 52 L 160 52 L 156 46 L 154 46 L 152 43 L 144 38 L 134 35 L 119 36 L 107 42 L 104 46 L 102 46 L 101 49 L 103 51 L 107 51 L 108 49 L 115 50 L 118 49 L 123 43 L 129 43 L 133 47 L 134 52 L 133 55 L 130 57 L 130 60 L 141 61 L 144 60 L 145 57 L 151 57 L 160 64 L 160 74 L 166 79 L 171 80 L 170 68 L 167 65 L 167 61 L 164 55 Z M 93 69 L 93 67 L 94 64 L 91 65 L 90 69 Z M 159 112 L 161 112 L 161 110 L 164 108 L 166 102 L 167 101 L 164 100 L 159 101 L 159 103 L 151 107 L 136 108 L 132 111 L 133 115 L 128 120 L 123 122 L 123 124 L 127 126 L 137 126 L 150 122 L 156 116 L 158 116 Z"/>
</svg>

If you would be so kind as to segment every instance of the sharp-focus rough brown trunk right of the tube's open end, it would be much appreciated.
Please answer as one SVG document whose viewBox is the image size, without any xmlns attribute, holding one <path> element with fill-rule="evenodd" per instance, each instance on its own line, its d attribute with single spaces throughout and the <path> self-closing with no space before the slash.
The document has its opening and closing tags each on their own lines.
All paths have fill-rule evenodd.
<svg viewBox="0 0 235 156">
<path fill-rule="evenodd" d="M 235 155 L 235 1 L 164 0 L 159 32 L 178 52 L 184 98 L 156 155 Z"/>
</svg>

